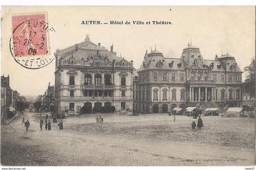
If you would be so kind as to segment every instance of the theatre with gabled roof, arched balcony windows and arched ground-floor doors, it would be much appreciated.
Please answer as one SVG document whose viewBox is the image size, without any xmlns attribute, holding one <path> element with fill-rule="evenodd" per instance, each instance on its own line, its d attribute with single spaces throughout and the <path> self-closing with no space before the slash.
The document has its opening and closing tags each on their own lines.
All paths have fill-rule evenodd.
<svg viewBox="0 0 256 170">
<path fill-rule="evenodd" d="M 90 38 L 55 52 L 55 110 L 58 115 L 77 115 L 114 107 L 132 110 L 133 63 Z M 110 110 L 107 110 L 107 112 Z"/>
</svg>

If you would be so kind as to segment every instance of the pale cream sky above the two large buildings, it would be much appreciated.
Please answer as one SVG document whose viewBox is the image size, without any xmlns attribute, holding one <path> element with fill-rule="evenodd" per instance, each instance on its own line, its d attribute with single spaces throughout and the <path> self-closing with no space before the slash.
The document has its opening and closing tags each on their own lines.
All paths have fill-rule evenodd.
<svg viewBox="0 0 256 170">
<path fill-rule="evenodd" d="M 18 65 L 9 51 L 12 35 L 11 16 L 20 13 L 47 13 L 50 33 L 49 55 L 85 40 L 90 35 L 93 43 L 107 49 L 113 43 L 117 55 L 133 60 L 135 69 L 148 51 L 157 48 L 164 57 L 180 58 L 182 49 L 192 41 L 200 48 L 204 59 L 215 54 L 236 58 L 243 68 L 255 56 L 255 7 L 3 7 L 1 32 L 1 75 L 10 76 L 10 87 L 24 96 L 43 94 L 48 83 L 54 85 L 55 61 L 40 69 Z M 171 21 L 171 25 L 83 25 L 82 21 Z M 243 74 L 243 79 L 245 74 Z"/>
</svg>

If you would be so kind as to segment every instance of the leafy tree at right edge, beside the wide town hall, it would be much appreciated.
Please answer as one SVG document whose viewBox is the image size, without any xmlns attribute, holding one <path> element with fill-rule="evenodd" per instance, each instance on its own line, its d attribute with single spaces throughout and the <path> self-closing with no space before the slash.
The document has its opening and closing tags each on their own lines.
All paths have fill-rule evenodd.
<svg viewBox="0 0 256 170">
<path fill-rule="evenodd" d="M 250 93 L 251 97 L 255 96 L 255 66 L 255 58 L 253 58 L 251 64 L 244 68 L 244 72 L 247 73 L 243 82 L 244 92 Z"/>
</svg>

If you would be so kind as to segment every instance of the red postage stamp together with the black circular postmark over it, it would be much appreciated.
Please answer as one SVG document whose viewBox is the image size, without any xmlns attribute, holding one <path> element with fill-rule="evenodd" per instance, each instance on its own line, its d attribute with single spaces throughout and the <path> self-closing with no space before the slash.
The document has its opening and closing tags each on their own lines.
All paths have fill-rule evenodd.
<svg viewBox="0 0 256 170">
<path fill-rule="evenodd" d="M 54 28 L 46 23 L 46 15 L 12 16 L 12 36 L 10 52 L 17 63 L 29 69 L 38 69 L 49 65 L 54 55 L 49 52 L 49 32 Z"/>
</svg>

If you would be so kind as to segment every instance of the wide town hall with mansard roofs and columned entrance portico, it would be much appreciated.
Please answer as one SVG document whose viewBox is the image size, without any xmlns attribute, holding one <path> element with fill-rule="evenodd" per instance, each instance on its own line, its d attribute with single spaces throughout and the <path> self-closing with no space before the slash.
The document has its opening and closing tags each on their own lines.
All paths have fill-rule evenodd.
<svg viewBox="0 0 256 170">
<path fill-rule="evenodd" d="M 241 76 L 235 58 L 229 54 L 205 60 L 199 48 L 188 44 L 180 58 L 169 58 L 155 49 L 146 52 L 135 72 L 133 111 L 167 113 L 174 107 L 240 107 Z"/>
</svg>

